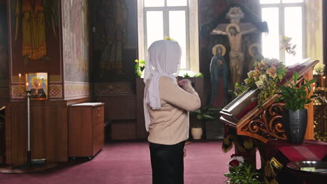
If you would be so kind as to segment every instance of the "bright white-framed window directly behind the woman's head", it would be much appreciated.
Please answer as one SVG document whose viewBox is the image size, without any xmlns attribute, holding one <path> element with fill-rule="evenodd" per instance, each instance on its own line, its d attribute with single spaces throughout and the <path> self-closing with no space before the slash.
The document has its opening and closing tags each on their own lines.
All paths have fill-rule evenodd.
<svg viewBox="0 0 327 184">
<path fill-rule="evenodd" d="M 180 70 L 198 72 L 198 4 L 194 0 L 138 0 L 138 57 L 146 59 L 156 40 L 182 47 Z"/>
</svg>

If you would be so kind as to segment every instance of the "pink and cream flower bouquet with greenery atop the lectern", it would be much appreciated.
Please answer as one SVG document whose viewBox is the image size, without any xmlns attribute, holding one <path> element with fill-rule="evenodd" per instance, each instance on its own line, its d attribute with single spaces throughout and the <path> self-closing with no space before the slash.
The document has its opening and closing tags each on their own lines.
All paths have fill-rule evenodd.
<svg viewBox="0 0 327 184">
<path fill-rule="evenodd" d="M 254 70 L 247 73 L 248 78 L 245 79 L 245 85 L 248 88 L 260 89 L 258 96 L 259 108 L 263 106 L 263 103 L 274 95 L 277 90 L 277 84 L 286 75 L 286 66 L 284 63 L 277 59 L 263 59 L 261 62 L 254 63 Z"/>
</svg>

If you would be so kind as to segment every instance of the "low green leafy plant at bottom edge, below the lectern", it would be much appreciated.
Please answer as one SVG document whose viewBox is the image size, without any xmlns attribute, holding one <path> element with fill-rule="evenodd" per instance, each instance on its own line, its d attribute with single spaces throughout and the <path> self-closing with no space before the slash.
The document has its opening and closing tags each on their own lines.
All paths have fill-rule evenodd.
<svg viewBox="0 0 327 184">
<path fill-rule="evenodd" d="M 232 184 L 261 184 L 259 180 L 260 174 L 245 164 L 236 167 L 229 167 L 229 173 L 224 174 L 227 177 L 225 183 Z"/>
</svg>

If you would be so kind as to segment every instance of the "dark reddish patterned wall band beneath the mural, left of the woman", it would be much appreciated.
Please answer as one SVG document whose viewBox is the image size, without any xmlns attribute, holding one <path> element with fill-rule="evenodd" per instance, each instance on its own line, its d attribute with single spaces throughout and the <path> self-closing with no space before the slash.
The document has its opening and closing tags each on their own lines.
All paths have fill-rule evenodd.
<svg viewBox="0 0 327 184">
<path fill-rule="evenodd" d="M 135 94 L 135 87 L 131 82 L 96 83 L 93 93 L 96 96 Z"/>
</svg>

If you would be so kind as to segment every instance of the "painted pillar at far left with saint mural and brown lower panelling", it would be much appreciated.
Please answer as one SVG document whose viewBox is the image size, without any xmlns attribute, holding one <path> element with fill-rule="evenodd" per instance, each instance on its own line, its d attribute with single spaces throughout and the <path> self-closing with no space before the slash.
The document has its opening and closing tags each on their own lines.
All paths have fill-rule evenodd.
<svg viewBox="0 0 327 184">
<path fill-rule="evenodd" d="M 89 31 L 85 14 L 87 11 L 82 11 L 87 10 L 87 1 L 6 2 L 9 7 L 11 97 L 6 107 L 6 163 L 26 162 L 24 153 L 27 153 L 27 126 L 24 126 L 24 123 L 27 113 L 24 75 L 33 72 L 48 73 L 49 98 L 30 102 L 30 118 L 33 122 L 31 147 L 37 148 L 32 159 L 45 158 L 49 162 L 66 162 L 67 105 L 89 100 Z M 18 77 L 18 74 L 22 77 Z M 29 86 L 33 86 L 33 82 Z"/>
</svg>

